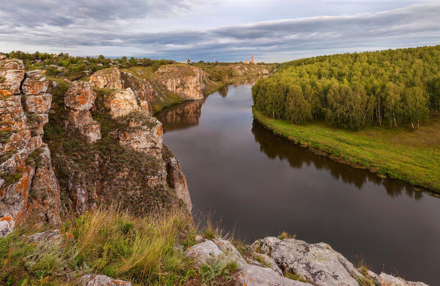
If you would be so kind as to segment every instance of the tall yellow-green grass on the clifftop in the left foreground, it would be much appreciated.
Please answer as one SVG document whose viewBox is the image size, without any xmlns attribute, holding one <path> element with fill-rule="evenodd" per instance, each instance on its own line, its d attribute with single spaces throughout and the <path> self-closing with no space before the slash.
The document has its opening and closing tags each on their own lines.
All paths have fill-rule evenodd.
<svg viewBox="0 0 440 286">
<path fill-rule="evenodd" d="M 135 217 L 113 207 L 66 221 L 59 240 L 31 243 L 30 230 L 17 229 L 0 239 L 0 283 L 74 285 L 102 273 L 133 285 L 181 285 L 193 261 L 174 247 L 188 228 L 184 209 Z"/>
</svg>

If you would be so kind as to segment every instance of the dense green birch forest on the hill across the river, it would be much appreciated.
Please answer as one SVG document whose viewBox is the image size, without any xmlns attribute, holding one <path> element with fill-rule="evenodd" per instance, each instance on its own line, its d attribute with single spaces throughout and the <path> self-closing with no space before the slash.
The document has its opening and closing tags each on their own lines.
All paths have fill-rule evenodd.
<svg viewBox="0 0 440 286">
<path fill-rule="evenodd" d="M 440 109 L 440 45 L 285 62 L 258 80 L 252 96 L 256 109 L 296 124 L 418 127 Z"/>
</svg>

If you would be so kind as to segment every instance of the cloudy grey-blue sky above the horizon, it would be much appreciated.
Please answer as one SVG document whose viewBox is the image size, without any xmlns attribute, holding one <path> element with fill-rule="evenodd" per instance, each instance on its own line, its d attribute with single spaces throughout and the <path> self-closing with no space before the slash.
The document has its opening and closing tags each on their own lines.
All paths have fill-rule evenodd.
<svg viewBox="0 0 440 286">
<path fill-rule="evenodd" d="M 0 51 L 286 62 L 440 44 L 440 0 L 0 0 Z"/>
</svg>

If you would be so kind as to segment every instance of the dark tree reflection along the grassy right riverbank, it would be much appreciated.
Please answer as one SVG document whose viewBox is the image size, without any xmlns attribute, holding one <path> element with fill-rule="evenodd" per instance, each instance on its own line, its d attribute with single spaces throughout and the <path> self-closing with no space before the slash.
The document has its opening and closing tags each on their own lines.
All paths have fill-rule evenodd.
<svg viewBox="0 0 440 286">
<path fill-rule="evenodd" d="M 292 142 L 282 137 L 275 136 L 271 130 L 256 120 L 253 120 L 252 123 L 252 134 L 255 142 L 260 145 L 260 152 L 264 152 L 270 159 L 286 160 L 292 168 L 301 169 L 304 164 L 308 167 L 313 165 L 318 170 L 329 171 L 334 179 L 354 185 L 359 190 L 367 182 L 371 182 L 374 185 L 384 186 L 387 194 L 392 198 L 405 194 L 416 201 L 423 199 L 424 192 L 403 181 L 382 179 L 366 170 L 335 162 L 326 156 L 317 156 L 305 148 L 293 145 Z"/>
</svg>

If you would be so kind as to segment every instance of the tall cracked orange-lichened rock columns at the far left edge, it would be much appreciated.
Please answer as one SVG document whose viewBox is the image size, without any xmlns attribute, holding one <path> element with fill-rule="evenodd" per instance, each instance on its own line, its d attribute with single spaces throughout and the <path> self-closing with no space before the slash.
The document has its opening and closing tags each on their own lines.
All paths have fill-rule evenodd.
<svg viewBox="0 0 440 286">
<path fill-rule="evenodd" d="M 60 223 L 59 185 L 48 146 L 42 143 L 48 122 L 49 81 L 39 70 L 23 71 L 23 62 L 0 55 L 0 214 L 22 223 Z"/>
</svg>

